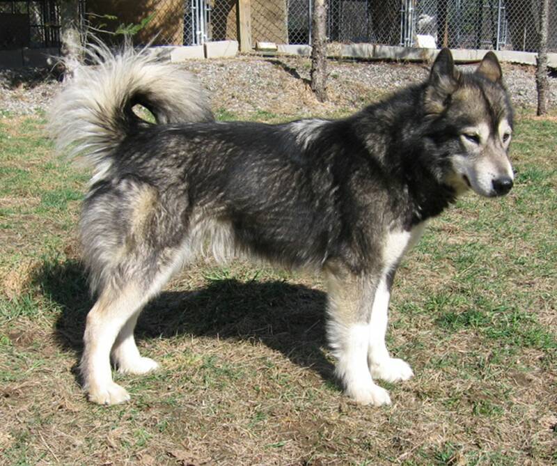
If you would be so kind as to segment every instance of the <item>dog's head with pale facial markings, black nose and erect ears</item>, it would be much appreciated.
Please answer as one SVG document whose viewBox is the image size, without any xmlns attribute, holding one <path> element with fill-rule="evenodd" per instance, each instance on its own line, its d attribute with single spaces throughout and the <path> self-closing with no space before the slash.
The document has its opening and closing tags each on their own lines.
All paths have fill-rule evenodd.
<svg viewBox="0 0 557 466">
<path fill-rule="evenodd" d="M 457 194 L 469 188 L 488 197 L 510 191 L 512 107 L 493 52 L 475 72 L 464 73 L 442 49 L 427 81 L 424 109 L 428 137 L 443 161 L 442 182 Z"/>
</svg>

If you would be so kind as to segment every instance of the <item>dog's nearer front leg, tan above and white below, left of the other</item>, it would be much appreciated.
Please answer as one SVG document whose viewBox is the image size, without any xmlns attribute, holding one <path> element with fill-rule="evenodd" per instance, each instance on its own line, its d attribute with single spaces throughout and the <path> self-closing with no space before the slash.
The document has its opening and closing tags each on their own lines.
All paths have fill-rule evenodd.
<svg viewBox="0 0 557 466">
<path fill-rule="evenodd" d="M 368 367 L 370 317 L 380 276 L 328 270 L 327 335 L 337 359 L 336 375 L 350 398 L 363 405 L 389 405 L 389 393 L 375 385 Z"/>
</svg>

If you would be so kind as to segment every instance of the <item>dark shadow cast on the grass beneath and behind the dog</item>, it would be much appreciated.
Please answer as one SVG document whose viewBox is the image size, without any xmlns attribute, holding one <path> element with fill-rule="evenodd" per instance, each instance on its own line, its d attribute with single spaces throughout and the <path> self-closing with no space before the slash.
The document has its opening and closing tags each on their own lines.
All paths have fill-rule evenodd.
<svg viewBox="0 0 557 466">
<path fill-rule="evenodd" d="M 55 326 L 56 342 L 75 352 L 83 350 L 86 315 L 93 305 L 84 270 L 78 261 L 47 264 L 35 283 L 43 295 L 62 309 Z M 326 295 L 284 281 L 207 281 L 193 291 L 166 291 L 143 310 L 136 340 L 176 335 L 261 341 L 290 361 L 334 380 L 333 366 L 324 355 Z"/>
</svg>

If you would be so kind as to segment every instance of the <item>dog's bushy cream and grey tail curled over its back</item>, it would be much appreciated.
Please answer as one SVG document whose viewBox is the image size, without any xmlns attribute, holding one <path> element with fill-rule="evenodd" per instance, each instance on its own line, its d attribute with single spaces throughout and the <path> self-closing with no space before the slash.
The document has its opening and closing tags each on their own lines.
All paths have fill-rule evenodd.
<svg viewBox="0 0 557 466">
<path fill-rule="evenodd" d="M 146 124 L 134 114 L 136 104 L 146 107 L 157 123 L 214 120 L 196 78 L 157 61 L 147 48 L 138 52 L 127 45 L 113 53 L 95 42 L 81 52 L 90 65 L 77 69 L 49 115 L 56 147 L 71 157 L 83 157 L 97 170 L 106 168 L 118 156 L 118 144 Z"/>
</svg>

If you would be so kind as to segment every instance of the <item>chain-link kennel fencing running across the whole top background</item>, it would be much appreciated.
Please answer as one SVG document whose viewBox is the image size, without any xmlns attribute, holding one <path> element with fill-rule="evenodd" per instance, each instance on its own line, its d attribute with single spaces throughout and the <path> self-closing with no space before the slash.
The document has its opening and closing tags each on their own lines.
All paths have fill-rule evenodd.
<svg viewBox="0 0 557 466">
<path fill-rule="evenodd" d="M 71 0 L 64 0 L 65 4 Z M 237 0 L 78 0 L 87 24 L 114 33 L 143 24 L 134 42 L 195 45 L 238 39 Z M 540 0 L 326 0 L 330 42 L 535 52 Z M 251 39 L 311 43 L 313 0 L 251 0 Z M 0 49 L 56 47 L 61 0 L 0 0 Z M 557 0 L 549 50 L 557 51 Z M 125 28 L 124 28 L 125 29 Z M 107 35 L 113 37 L 112 35 Z"/>
</svg>

